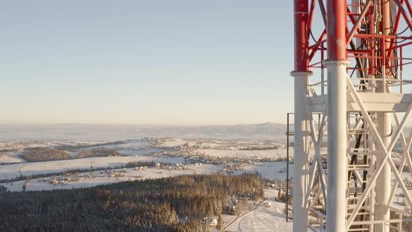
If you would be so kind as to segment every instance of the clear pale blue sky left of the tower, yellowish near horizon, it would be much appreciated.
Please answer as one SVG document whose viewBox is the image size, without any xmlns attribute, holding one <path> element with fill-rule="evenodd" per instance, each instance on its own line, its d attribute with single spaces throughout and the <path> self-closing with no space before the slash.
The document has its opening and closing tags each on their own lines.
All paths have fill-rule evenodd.
<svg viewBox="0 0 412 232">
<path fill-rule="evenodd" d="M 1 1 L 0 123 L 284 122 L 292 3 Z"/>
</svg>

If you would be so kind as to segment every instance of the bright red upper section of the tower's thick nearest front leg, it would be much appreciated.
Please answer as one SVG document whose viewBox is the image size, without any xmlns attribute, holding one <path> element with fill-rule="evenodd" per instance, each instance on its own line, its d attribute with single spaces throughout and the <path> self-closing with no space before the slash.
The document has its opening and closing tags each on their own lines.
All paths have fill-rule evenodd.
<svg viewBox="0 0 412 232">
<path fill-rule="evenodd" d="M 346 1 L 328 0 L 328 60 L 347 60 Z"/>
</svg>

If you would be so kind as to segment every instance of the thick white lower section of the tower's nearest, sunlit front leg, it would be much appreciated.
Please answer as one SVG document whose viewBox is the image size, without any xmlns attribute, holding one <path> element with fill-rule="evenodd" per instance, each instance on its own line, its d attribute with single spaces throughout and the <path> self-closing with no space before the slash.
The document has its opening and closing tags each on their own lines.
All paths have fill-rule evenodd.
<svg viewBox="0 0 412 232">
<path fill-rule="evenodd" d="M 348 61 L 325 61 L 328 67 L 328 232 L 346 226 L 346 67 Z"/>
</svg>

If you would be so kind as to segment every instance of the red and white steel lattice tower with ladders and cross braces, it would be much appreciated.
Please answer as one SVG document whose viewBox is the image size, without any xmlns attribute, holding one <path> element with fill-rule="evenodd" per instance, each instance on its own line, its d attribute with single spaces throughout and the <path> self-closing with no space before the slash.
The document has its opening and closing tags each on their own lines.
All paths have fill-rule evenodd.
<svg viewBox="0 0 412 232">
<path fill-rule="evenodd" d="M 404 93 L 411 19 L 409 0 L 294 0 L 293 231 L 405 231 L 412 222 L 401 175 L 412 170 L 412 94 Z"/>
</svg>

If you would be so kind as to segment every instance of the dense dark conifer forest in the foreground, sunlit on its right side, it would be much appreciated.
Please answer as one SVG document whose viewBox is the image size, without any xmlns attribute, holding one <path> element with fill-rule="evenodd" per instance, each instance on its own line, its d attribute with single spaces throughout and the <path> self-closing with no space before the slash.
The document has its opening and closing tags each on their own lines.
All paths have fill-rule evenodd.
<svg viewBox="0 0 412 232">
<path fill-rule="evenodd" d="M 202 231 L 202 217 L 221 215 L 230 198 L 242 205 L 244 196 L 263 197 L 256 191 L 260 187 L 257 175 L 214 174 L 87 189 L 1 191 L 0 231 Z"/>
</svg>

